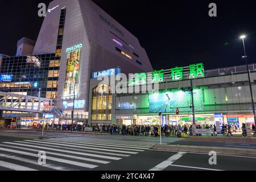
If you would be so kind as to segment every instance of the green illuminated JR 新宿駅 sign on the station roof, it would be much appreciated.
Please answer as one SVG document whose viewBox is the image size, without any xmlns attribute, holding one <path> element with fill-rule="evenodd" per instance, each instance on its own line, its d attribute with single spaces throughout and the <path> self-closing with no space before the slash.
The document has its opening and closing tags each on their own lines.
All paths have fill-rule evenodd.
<svg viewBox="0 0 256 182">
<path fill-rule="evenodd" d="M 155 70 L 152 73 L 148 73 L 148 75 L 147 73 L 136 73 L 135 75 L 130 76 L 129 83 L 130 85 L 141 85 L 147 84 L 147 81 L 150 81 L 151 83 L 158 83 L 203 77 L 205 77 L 204 64 L 198 63 L 191 64 L 189 67 L 175 67 L 169 71 L 164 71 L 164 69 L 159 71 Z"/>
</svg>

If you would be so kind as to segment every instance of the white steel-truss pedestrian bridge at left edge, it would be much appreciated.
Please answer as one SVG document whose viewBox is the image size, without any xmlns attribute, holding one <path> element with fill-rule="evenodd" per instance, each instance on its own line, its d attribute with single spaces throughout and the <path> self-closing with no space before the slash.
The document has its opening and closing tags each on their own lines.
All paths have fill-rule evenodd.
<svg viewBox="0 0 256 182">
<path fill-rule="evenodd" d="M 53 101 L 47 98 L 0 92 L 0 110 L 27 113 L 51 113 Z"/>
</svg>

